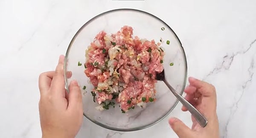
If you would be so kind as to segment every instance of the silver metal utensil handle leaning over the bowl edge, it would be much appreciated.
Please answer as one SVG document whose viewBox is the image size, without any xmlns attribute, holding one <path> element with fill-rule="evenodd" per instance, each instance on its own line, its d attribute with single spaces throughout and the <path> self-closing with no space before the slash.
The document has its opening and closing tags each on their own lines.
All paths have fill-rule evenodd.
<svg viewBox="0 0 256 138">
<path fill-rule="evenodd" d="M 175 97 L 189 110 L 189 112 L 195 117 L 201 127 L 206 127 L 207 119 L 202 115 L 192 104 L 184 99 L 177 91 L 164 79 L 163 82 L 172 91 Z"/>
</svg>

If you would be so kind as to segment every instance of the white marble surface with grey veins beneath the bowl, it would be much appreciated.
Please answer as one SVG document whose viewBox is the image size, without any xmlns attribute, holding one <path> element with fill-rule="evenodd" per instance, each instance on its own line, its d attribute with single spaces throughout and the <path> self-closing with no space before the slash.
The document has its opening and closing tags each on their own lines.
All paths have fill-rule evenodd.
<svg viewBox="0 0 256 138">
<path fill-rule="evenodd" d="M 39 138 L 38 75 L 53 70 L 87 20 L 115 8 L 137 8 L 166 21 L 188 60 L 188 75 L 215 85 L 221 138 L 256 135 L 255 0 L 0 0 L 0 137 Z M 114 132 L 84 118 L 77 138 L 177 138 L 170 116 L 191 125 L 178 104 L 160 123 Z"/>
</svg>

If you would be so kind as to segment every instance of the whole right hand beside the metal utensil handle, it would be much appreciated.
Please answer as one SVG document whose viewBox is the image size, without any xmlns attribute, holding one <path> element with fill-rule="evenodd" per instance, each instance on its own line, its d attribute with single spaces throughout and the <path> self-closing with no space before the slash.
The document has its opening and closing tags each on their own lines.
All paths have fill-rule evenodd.
<svg viewBox="0 0 256 138">
<path fill-rule="evenodd" d="M 216 91 L 215 87 L 207 82 L 189 77 L 190 85 L 184 92 L 185 99 L 198 109 L 208 120 L 206 127 L 202 128 L 192 116 L 192 128 L 187 127 L 177 118 L 170 118 L 169 124 L 179 138 L 218 138 L 218 117 L 216 113 Z M 186 107 L 182 107 L 187 111 Z"/>
</svg>

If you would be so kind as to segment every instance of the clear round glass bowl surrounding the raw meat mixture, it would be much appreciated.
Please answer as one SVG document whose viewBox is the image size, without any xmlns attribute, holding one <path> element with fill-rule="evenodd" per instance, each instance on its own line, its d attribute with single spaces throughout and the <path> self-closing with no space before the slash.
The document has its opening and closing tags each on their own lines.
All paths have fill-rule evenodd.
<svg viewBox="0 0 256 138">
<path fill-rule="evenodd" d="M 178 101 L 166 85 L 158 81 L 157 100 L 148 103 L 145 108 L 135 107 L 125 114 L 121 113 L 118 105 L 115 108 L 110 107 L 109 110 L 96 110 L 98 104 L 93 102 L 90 93 L 93 85 L 84 74 L 85 50 L 100 31 L 104 30 L 107 34 L 112 34 L 124 25 L 133 27 L 134 37 L 154 39 L 156 43 L 162 39 L 166 79 L 178 93 L 182 94 L 186 84 L 187 63 L 179 38 L 172 28 L 158 17 L 136 9 L 115 9 L 104 12 L 93 17 L 77 31 L 67 49 L 64 64 L 65 74 L 67 71 L 72 71 L 73 75 L 69 79 L 65 75 L 65 82 L 67 87 L 71 80 L 78 81 L 81 86 L 84 116 L 90 121 L 110 130 L 135 131 L 161 121 L 174 109 Z M 166 43 L 167 40 L 170 42 L 169 45 Z M 78 66 L 78 62 L 82 65 Z M 174 63 L 173 66 L 170 66 L 171 62 Z M 86 90 L 83 90 L 83 86 L 86 86 Z M 69 91 L 68 87 L 67 91 Z"/>
</svg>

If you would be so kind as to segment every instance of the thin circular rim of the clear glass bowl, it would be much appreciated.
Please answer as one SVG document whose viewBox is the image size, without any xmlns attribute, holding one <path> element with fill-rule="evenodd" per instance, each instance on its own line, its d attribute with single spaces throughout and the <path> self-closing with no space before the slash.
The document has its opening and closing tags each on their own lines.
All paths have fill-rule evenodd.
<svg viewBox="0 0 256 138">
<path fill-rule="evenodd" d="M 74 37 L 71 39 L 70 44 L 68 45 L 68 48 L 67 48 L 67 51 L 66 51 L 66 54 L 65 54 L 65 59 L 64 59 L 64 78 L 65 78 L 65 86 L 66 86 L 66 88 L 67 88 L 67 92 L 69 93 L 68 84 L 67 84 L 67 77 L 66 77 L 66 71 L 67 71 L 67 70 L 66 70 L 67 55 L 69 54 L 70 48 L 71 48 L 71 46 L 73 45 L 74 40 L 76 39 L 76 37 L 77 37 L 77 36 L 79 35 L 79 33 L 81 32 L 81 30 L 82 30 L 87 24 L 89 24 L 90 22 L 92 22 L 94 19 L 96 19 L 96 18 L 102 16 L 103 14 L 111 13 L 111 12 L 113 12 L 113 11 L 138 11 L 138 12 L 142 12 L 142 13 L 144 13 L 144 14 L 148 14 L 148 15 L 150 15 L 151 17 L 154 17 L 154 18 L 160 20 L 160 21 L 161 21 L 163 24 L 165 24 L 169 29 L 171 29 L 171 31 L 175 34 L 175 37 L 177 38 L 178 42 L 180 43 L 180 47 L 181 47 L 181 49 L 182 49 L 182 51 L 183 51 L 184 59 L 185 59 L 185 76 L 184 76 L 184 82 L 183 82 L 182 91 L 181 91 L 181 93 L 180 93 L 180 95 L 182 95 L 182 94 L 183 94 L 183 91 L 184 91 L 184 89 L 185 89 L 185 86 L 186 86 L 186 79 L 187 79 L 187 59 L 186 59 L 186 54 L 185 54 L 184 48 L 183 48 L 183 46 L 182 46 L 182 43 L 180 42 L 179 37 L 177 36 L 177 34 L 175 33 L 175 31 L 173 31 L 173 29 L 172 29 L 167 23 L 165 23 L 163 20 L 161 20 L 160 18 L 158 18 L 158 17 L 154 16 L 153 14 L 150 14 L 150 13 L 148 13 L 148 12 L 146 12 L 146 11 L 142 11 L 142 10 L 134 9 L 134 8 L 117 8 L 117 9 L 112 9 L 112 10 L 109 10 L 109 11 L 102 12 L 101 14 L 98 14 L 98 15 L 96 15 L 95 17 L 91 18 L 89 21 L 87 21 L 86 23 L 84 23 L 84 25 L 82 25 L 81 28 L 79 28 L 79 30 L 76 32 L 76 34 L 74 35 Z M 157 120 L 153 121 L 152 123 L 146 124 L 146 125 L 143 125 L 143 126 L 140 126 L 140 127 L 133 127 L 133 128 L 127 128 L 127 129 L 126 129 L 126 128 L 110 127 L 110 126 L 108 126 L 108 125 L 102 124 L 102 123 L 100 123 L 100 122 L 98 122 L 98 121 L 94 121 L 93 119 L 87 117 L 87 116 L 84 114 L 84 112 L 83 112 L 83 115 L 84 115 L 87 119 L 89 119 L 90 121 L 92 121 L 93 123 L 95 123 L 95 124 L 97 124 L 97 125 L 99 125 L 99 126 L 101 126 L 101 127 L 104 127 L 104 128 L 106 128 L 106 129 L 108 129 L 108 130 L 114 130 L 114 131 L 120 131 L 120 132 L 131 132 L 131 131 L 143 130 L 143 129 L 145 129 L 145 128 L 151 127 L 151 126 L 153 126 L 154 124 L 157 124 L 158 122 L 162 121 L 164 118 L 166 118 L 167 115 L 169 115 L 169 114 L 172 112 L 172 110 L 176 107 L 177 103 L 178 103 L 178 100 L 176 99 L 175 104 L 172 105 L 172 108 L 169 110 L 169 112 L 166 113 L 165 115 L 163 115 L 162 117 L 158 118 Z"/>
</svg>

